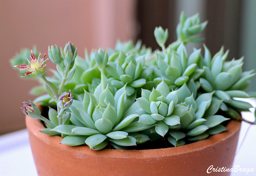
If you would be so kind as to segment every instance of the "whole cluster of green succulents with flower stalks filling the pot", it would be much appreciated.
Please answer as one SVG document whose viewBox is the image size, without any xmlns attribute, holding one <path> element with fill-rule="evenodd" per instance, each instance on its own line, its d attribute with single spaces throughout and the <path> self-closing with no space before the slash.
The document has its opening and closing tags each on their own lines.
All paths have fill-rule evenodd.
<svg viewBox="0 0 256 176">
<path fill-rule="evenodd" d="M 32 101 L 24 102 L 22 111 L 45 122 L 41 132 L 63 137 L 61 144 L 86 144 L 93 150 L 161 139 L 180 146 L 223 132 L 225 121 L 241 120 L 240 111 L 253 108 L 235 98 L 255 96 L 244 92 L 255 72 L 242 71 L 243 58 L 226 61 L 223 47 L 213 57 L 205 45 L 204 55 L 196 48 L 189 55 L 185 45 L 201 41 L 196 34 L 206 24 L 198 14 L 187 18 L 181 13 L 178 39 L 168 47 L 168 30 L 155 28 L 162 50 L 154 52 L 141 41 L 117 42 L 115 49 L 85 50 L 83 59 L 70 42 L 64 49 L 49 46 L 48 56 L 57 68 L 52 77 L 44 73 L 47 52 L 39 59 L 31 51 L 26 65 L 20 60 L 25 50 L 12 64 L 26 70 L 23 76 L 41 78 L 45 88 L 32 92 L 47 94 L 34 103 L 50 108 L 48 118 Z"/>
</svg>

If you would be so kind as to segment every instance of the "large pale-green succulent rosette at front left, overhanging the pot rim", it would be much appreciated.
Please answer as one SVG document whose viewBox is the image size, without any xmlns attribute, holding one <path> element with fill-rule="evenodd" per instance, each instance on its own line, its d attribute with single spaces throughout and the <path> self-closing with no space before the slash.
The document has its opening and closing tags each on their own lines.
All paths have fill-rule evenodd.
<svg viewBox="0 0 256 176">
<path fill-rule="evenodd" d="M 133 122 L 139 116 L 137 114 L 123 116 L 125 104 L 125 87 L 119 89 L 114 96 L 107 85 L 100 94 L 99 101 L 93 94 L 84 91 L 83 102 L 74 100 L 70 107 L 74 115 L 71 116 L 70 121 L 75 125 L 63 124 L 50 131 L 67 135 L 61 141 L 62 144 L 87 144 L 93 150 L 100 150 L 108 143 L 114 148 L 136 145 L 136 138 L 140 139 L 139 143 L 146 142 L 149 140 L 146 135 L 135 132 L 154 125 Z M 130 136 L 128 133 L 132 133 L 132 135 Z M 142 137 L 143 140 L 141 140 Z M 74 143 L 77 140 L 81 140 L 81 142 Z"/>
</svg>

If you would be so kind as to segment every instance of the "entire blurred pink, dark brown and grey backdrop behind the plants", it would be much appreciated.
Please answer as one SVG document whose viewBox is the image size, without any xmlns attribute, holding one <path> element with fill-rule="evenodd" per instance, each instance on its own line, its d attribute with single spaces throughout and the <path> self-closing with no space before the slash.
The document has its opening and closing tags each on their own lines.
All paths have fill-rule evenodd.
<svg viewBox="0 0 256 176">
<path fill-rule="evenodd" d="M 155 49 L 155 27 L 169 29 L 167 43 L 176 40 L 183 10 L 209 21 L 202 36 L 212 55 L 224 45 L 230 49 L 228 60 L 244 55 L 244 69 L 250 70 L 256 68 L 255 9 L 256 0 L 0 0 L 0 135 L 25 128 L 22 100 L 35 99 L 28 91 L 37 82 L 20 79 L 9 63 L 21 48 L 36 44 L 44 53 L 48 45 L 64 47 L 71 41 L 83 57 L 85 47 L 106 49 L 116 39 L 140 38 Z M 203 42 L 188 44 L 188 52 Z M 54 68 L 51 61 L 49 67 Z M 255 87 L 256 76 L 249 90 Z"/>
</svg>

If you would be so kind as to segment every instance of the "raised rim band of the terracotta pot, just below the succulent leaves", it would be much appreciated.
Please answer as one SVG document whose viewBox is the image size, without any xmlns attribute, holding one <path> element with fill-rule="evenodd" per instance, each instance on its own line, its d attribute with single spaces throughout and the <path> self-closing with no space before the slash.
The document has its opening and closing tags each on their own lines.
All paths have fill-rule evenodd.
<svg viewBox="0 0 256 176">
<path fill-rule="evenodd" d="M 190 144 L 185 144 L 178 147 L 170 148 L 158 148 L 158 149 L 143 149 L 143 150 L 124 150 L 124 149 L 103 149 L 94 151 L 89 148 L 89 146 L 68 146 L 65 144 L 60 144 L 63 139 L 60 136 L 50 136 L 40 132 L 44 129 L 44 125 L 41 123 L 40 119 L 33 119 L 26 116 L 27 130 L 30 135 L 35 135 L 36 137 L 44 140 L 48 145 L 53 145 L 60 150 L 66 150 L 74 153 L 74 155 L 90 155 L 97 157 L 112 157 L 112 158 L 155 158 L 173 155 L 183 155 L 186 153 L 193 152 L 195 150 L 201 150 L 204 148 L 214 146 L 219 142 L 231 137 L 238 130 L 240 130 L 241 121 L 230 120 L 226 126 L 227 131 L 214 134 L 207 139 L 196 141 Z"/>
</svg>

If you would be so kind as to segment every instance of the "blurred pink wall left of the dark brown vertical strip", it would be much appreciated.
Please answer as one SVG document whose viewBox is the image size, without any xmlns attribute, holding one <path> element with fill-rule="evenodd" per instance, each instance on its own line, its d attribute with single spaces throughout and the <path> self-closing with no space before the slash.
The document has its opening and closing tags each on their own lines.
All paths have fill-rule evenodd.
<svg viewBox="0 0 256 176">
<path fill-rule="evenodd" d="M 114 47 L 116 39 L 135 38 L 135 0 L 1 0 L 1 115 L 0 134 L 25 128 L 22 100 L 37 83 L 20 79 L 9 63 L 21 48 L 37 45 L 45 53 L 48 45 L 75 44 L 84 48 Z M 25 59 L 25 58 L 24 58 Z M 47 61 L 47 69 L 54 68 Z M 49 70 L 49 69 L 48 69 Z"/>
</svg>

